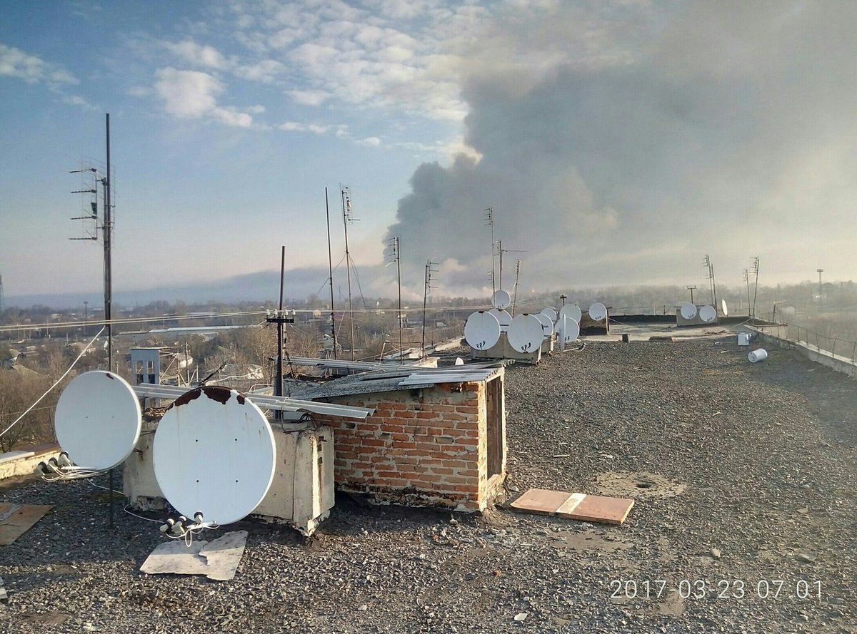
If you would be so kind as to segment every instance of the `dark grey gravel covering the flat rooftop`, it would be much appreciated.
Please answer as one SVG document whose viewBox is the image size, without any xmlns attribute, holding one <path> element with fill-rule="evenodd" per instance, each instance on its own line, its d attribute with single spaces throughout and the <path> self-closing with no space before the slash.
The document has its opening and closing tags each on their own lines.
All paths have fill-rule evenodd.
<svg viewBox="0 0 857 634">
<path fill-rule="evenodd" d="M 508 368 L 508 500 L 647 474 L 621 527 L 338 495 L 309 539 L 208 531 L 249 530 L 219 583 L 142 574 L 158 524 L 117 507 L 110 529 L 103 490 L 29 481 L 0 500 L 56 507 L 0 550 L 0 631 L 857 632 L 857 384 L 777 350 L 748 364 L 732 339 L 590 342 Z"/>
</svg>

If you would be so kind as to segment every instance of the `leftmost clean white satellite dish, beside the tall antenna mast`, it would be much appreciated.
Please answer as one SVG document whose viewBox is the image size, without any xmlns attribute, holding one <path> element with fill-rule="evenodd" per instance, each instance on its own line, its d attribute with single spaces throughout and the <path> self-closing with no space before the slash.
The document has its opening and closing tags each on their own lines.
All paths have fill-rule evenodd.
<svg viewBox="0 0 857 634">
<path fill-rule="evenodd" d="M 120 465 L 140 437 L 142 412 L 134 389 L 105 370 L 75 376 L 57 401 L 54 430 L 75 465 L 96 471 Z"/>
</svg>

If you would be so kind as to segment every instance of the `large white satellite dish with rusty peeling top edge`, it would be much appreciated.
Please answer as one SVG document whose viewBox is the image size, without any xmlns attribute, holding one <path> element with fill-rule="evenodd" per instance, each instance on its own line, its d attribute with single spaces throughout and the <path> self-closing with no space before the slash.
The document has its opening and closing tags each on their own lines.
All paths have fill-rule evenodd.
<svg viewBox="0 0 857 634">
<path fill-rule="evenodd" d="M 155 431 L 153 465 L 164 497 L 207 523 L 245 518 L 267 494 L 275 467 L 265 415 L 234 389 L 196 388 L 178 397 Z"/>
</svg>

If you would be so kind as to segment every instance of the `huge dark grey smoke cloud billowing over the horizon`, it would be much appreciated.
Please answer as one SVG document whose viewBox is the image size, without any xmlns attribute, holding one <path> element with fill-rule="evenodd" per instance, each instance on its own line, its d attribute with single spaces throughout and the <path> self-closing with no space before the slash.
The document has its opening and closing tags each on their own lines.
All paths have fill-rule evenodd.
<svg viewBox="0 0 857 634">
<path fill-rule="evenodd" d="M 730 284 L 757 255 L 769 280 L 824 258 L 857 275 L 857 3 L 679 7 L 497 26 L 465 68 L 482 158 L 420 166 L 388 230 L 409 275 L 432 259 L 446 294 L 489 288 L 488 206 L 503 247 L 525 251 L 506 254 L 504 287 L 515 258 L 537 288 L 695 282 L 704 253 Z M 509 59 L 564 42 L 535 73 Z"/>
</svg>

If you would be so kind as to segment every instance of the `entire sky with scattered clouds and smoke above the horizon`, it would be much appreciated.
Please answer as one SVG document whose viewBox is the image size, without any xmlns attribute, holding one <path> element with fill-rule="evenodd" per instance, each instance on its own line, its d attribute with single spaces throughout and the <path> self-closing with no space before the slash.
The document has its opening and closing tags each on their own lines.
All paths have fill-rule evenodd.
<svg viewBox="0 0 857 634">
<path fill-rule="evenodd" d="M 128 299 L 857 279 L 857 3 L 224 0 L 0 7 L 8 303 L 97 300 L 111 121 Z M 89 173 L 91 174 L 91 173 Z M 491 208 L 493 227 L 486 222 Z M 338 264 L 339 263 L 339 264 Z M 355 289 L 357 293 L 357 288 Z M 206 294 L 212 297 L 204 297 Z M 217 295 L 217 297 L 214 297 Z M 10 301 L 11 300 L 11 301 Z M 678 299 L 677 299 L 678 300 Z"/>
</svg>

